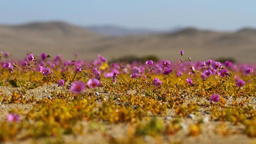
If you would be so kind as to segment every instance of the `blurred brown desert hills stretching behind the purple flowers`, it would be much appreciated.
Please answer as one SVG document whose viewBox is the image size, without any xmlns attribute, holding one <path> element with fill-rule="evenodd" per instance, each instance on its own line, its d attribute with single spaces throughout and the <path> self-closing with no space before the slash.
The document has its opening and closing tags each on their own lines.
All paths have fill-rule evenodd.
<svg viewBox="0 0 256 144">
<path fill-rule="evenodd" d="M 253 28 L 233 33 L 196 28 L 146 35 L 131 33 L 134 34 L 117 37 L 57 21 L 0 25 L 0 50 L 17 59 L 24 57 L 29 49 L 36 54 L 62 54 L 68 59 L 73 59 L 74 53 L 79 53 L 81 59 L 93 59 L 101 53 L 109 59 L 153 54 L 176 60 L 182 49 L 184 56 L 193 60 L 233 57 L 239 62 L 256 62 L 256 29 Z"/>
</svg>

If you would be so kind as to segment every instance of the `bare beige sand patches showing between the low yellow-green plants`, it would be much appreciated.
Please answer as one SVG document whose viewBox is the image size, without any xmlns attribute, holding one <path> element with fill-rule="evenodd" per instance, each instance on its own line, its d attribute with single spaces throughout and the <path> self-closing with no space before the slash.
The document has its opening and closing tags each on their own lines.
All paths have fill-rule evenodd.
<svg viewBox="0 0 256 144">
<path fill-rule="evenodd" d="M 0 87 L 2 90 L 2 93 L 5 93 L 7 95 L 11 95 L 13 91 L 18 91 L 20 88 L 12 88 L 12 87 Z M 51 91 L 55 91 L 56 89 L 61 90 L 62 88 L 57 87 L 56 84 L 53 85 L 44 85 L 37 87 L 33 90 L 28 90 L 26 93 L 26 96 L 29 98 L 32 95 L 36 96 L 36 99 L 42 99 L 47 98 L 47 96 L 51 95 Z M 105 98 L 108 98 L 108 93 L 101 93 Z M 192 100 L 195 101 L 195 98 Z M 227 103 L 230 103 L 231 100 L 227 99 Z M 8 111 L 11 109 L 30 109 L 33 107 L 35 103 L 29 103 L 29 104 L 0 104 L 0 122 L 3 120 L 6 120 L 6 116 L 8 114 Z M 255 103 L 252 103 L 255 104 Z M 225 122 L 224 124 L 227 126 L 227 128 L 230 130 L 231 134 L 229 136 L 222 136 L 215 133 L 215 130 L 220 124 L 222 124 L 219 121 L 213 121 L 210 119 L 211 112 L 210 108 L 200 108 L 198 111 L 198 115 L 191 119 L 191 118 L 182 118 L 181 119 L 181 126 L 182 129 L 179 130 L 178 133 L 174 135 L 167 135 L 164 136 L 161 139 L 152 138 L 150 136 L 144 136 L 143 139 L 146 143 L 194 143 L 194 144 L 227 144 L 227 143 L 233 143 L 233 144 L 252 144 L 256 143 L 256 139 L 249 138 L 245 134 L 243 134 L 243 125 L 237 125 L 234 126 L 233 124 L 229 122 Z M 177 116 L 175 115 L 174 110 L 169 109 L 167 115 L 163 117 L 159 117 L 160 120 L 172 120 L 175 119 Z M 209 121 L 207 121 L 207 118 Z M 202 131 L 201 134 L 198 136 L 189 136 L 189 125 L 196 123 L 198 119 L 205 119 L 206 122 L 202 124 Z M 127 129 L 128 124 L 122 123 L 122 124 L 109 124 L 106 122 L 101 122 L 99 125 L 102 125 L 105 132 L 102 132 L 101 130 L 94 130 L 90 131 L 89 125 L 90 122 L 87 121 L 81 121 L 79 124 L 83 124 L 85 126 L 85 135 L 64 135 L 62 140 L 64 140 L 66 143 L 108 143 L 107 137 L 113 137 L 116 139 L 124 139 L 124 136 L 127 136 Z M 98 124 L 96 124 L 98 125 Z M 90 132 L 88 132 L 90 131 Z M 106 137 L 107 135 L 107 137 Z M 20 143 L 20 144 L 26 144 L 26 143 L 47 143 L 46 141 L 55 138 L 39 138 L 39 139 L 24 139 L 19 141 L 8 141 L 5 143 Z M 63 142 L 63 141 L 62 141 Z M 61 143 L 62 143 L 61 142 Z"/>
</svg>

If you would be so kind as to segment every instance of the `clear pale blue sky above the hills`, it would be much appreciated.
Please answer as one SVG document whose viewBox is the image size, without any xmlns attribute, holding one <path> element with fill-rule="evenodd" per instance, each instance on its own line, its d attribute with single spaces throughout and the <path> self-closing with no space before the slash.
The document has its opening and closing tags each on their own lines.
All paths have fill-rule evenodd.
<svg viewBox="0 0 256 144">
<path fill-rule="evenodd" d="M 256 27 L 256 0 L 3 0 L 0 5 L 0 24 L 61 20 L 151 29 Z"/>
</svg>

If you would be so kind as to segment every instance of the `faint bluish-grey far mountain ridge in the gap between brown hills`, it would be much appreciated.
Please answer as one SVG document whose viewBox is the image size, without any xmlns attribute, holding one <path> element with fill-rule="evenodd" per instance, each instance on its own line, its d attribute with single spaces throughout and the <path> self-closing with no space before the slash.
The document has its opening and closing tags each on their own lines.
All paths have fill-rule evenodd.
<svg viewBox="0 0 256 144">
<path fill-rule="evenodd" d="M 103 35 L 111 35 L 111 36 L 128 36 L 128 35 L 147 35 L 147 34 L 157 34 L 157 33 L 163 33 L 163 32 L 176 32 L 181 29 L 180 26 L 170 28 L 169 30 L 163 31 L 163 30 L 149 30 L 149 29 L 143 29 L 143 28 L 126 28 L 116 25 L 102 25 L 102 26 L 88 26 L 86 27 L 88 30 L 91 30 L 92 32 L 103 34 Z"/>
</svg>

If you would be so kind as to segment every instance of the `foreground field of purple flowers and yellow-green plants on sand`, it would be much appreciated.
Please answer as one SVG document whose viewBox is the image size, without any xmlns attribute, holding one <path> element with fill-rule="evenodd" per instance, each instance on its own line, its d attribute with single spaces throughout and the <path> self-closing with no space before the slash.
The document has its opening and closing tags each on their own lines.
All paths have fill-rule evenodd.
<svg viewBox="0 0 256 144">
<path fill-rule="evenodd" d="M 1 54 L 0 141 L 252 143 L 255 64 Z M 242 141 L 240 141 L 243 139 Z"/>
</svg>

